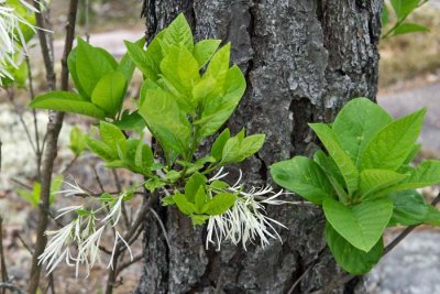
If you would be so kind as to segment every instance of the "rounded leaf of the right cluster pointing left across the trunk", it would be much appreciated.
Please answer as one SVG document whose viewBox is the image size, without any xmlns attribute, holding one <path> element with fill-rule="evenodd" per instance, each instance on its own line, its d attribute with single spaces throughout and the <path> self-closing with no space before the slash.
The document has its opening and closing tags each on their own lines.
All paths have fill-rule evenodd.
<svg viewBox="0 0 440 294">
<path fill-rule="evenodd" d="M 315 204 L 333 197 L 333 188 L 326 174 L 312 160 L 295 156 L 271 166 L 271 175 L 276 184 Z"/>
</svg>

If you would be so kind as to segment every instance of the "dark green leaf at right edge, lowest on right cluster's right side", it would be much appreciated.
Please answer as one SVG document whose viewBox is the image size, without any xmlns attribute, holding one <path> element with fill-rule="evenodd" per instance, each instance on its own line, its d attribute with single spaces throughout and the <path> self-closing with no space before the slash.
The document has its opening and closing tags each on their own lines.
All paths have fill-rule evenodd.
<svg viewBox="0 0 440 294">
<path fill-rule="evenodd" d="M 429 224 L 440 226 L 440 211 L 427 204 L 415 189 L 389 194 L 393 200 L 393 216 L 389 226 L 415 226 Z"/>
</svg>

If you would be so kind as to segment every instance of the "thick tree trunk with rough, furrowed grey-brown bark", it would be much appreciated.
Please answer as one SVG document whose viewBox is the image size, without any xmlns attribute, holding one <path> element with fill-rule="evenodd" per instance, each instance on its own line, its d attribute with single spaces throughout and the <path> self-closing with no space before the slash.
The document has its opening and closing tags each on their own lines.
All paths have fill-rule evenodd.
<svg viewBox="0 0 440 294">
<path fill-rule="evenodd" d="M 330 121 L 348 100 L 375 98 L 383 0 L 145 0 L 147 37 L 185 12 L 196 39 L 232 43 L 232 62 L 248 80 L 229 127 L 265 133 L 266 143 L 240 167 L 245 183 L 270 181 L 268 166 L 318 145 L 308 122 Z M 295 198 L 296 199 L 296 198 Z M 324 218 L 311 205 L 273 207 L 283 243 L 205 249 L 205 235 L 176 209 L 145 222 L 145 264 L 138 293 L 293 293 L 326 291 L 340 274 L 323 240 Z M 319 258 L 318 258 L 319 257 Z M 311 264 L 311 266 L 310 266 Z M 310 268 L 309 268 L 310 266 Z M 337 292 L 342 293 L 343 288 Z"/>
</svg>

